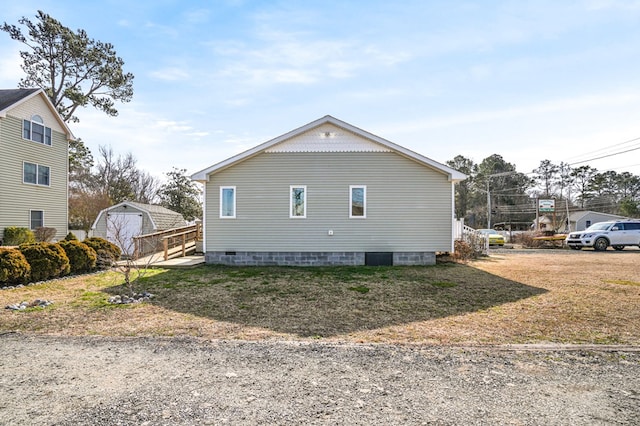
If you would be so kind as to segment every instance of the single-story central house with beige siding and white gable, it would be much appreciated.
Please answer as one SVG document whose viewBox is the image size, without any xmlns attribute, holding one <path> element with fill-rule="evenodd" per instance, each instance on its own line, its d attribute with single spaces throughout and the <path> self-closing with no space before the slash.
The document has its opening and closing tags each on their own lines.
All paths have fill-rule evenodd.
<svg viewBox="0 0 640 426">
<path fill-rule="evenodd" d="M 249 265 L 434 263 L 464 177 L 331 116 L 192 176 L 207 262 Z"/>
</svg>

